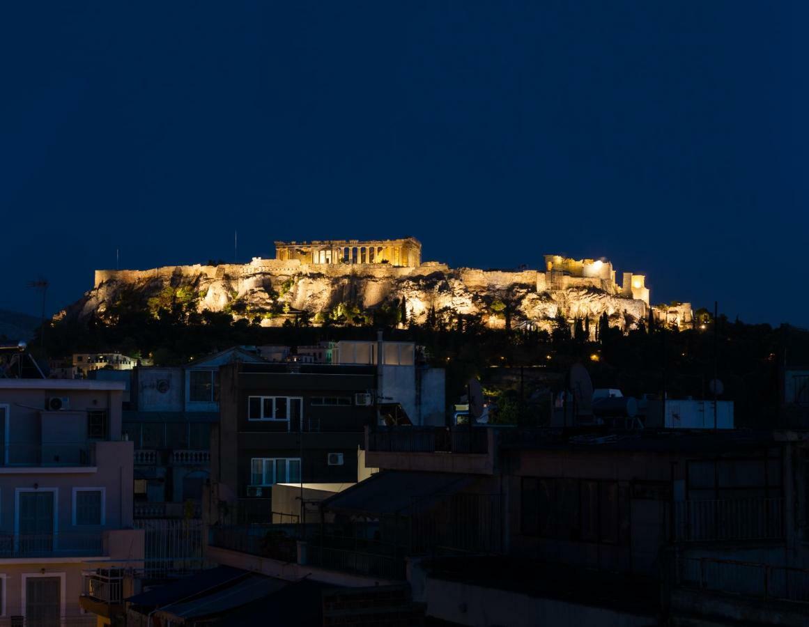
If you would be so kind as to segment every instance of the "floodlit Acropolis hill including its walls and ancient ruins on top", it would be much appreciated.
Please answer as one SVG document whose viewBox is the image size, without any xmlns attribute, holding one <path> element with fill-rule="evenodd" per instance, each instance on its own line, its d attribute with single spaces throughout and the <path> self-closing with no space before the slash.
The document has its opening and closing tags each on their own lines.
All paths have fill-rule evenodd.
<svg viewBox="0 0 809 627">
<path fill-rule="evenodd" d="M 95 286 L 59 317 L 109 318 L 122 294 L 133 294 L 151 311 L 178 303 L 188 310 L 226 311 L 263 326 L 278 326 L 307 312 L 312 324 L 362 320 L 379 307 L 398 307 L 423 323 L 428 312 L 452 320 L 481 316 L 502 328 L 553 328 L 557 316 L 596 318 L 634 328 L 650 314 L 646 277 L 621 273 L 604 259 L 545 255 L 542 269 L 451 269 L 421 261 L 412 237 L 358 241 L 276 242 L 275 259 L 254 257 L 244 265 L 181 265 L 150 270 L 97 270 Z M 692 324 L 688 303 L 653 307 L 656 320 Z M 595 328 L 591 324 L 590 328 Z"/>
</svg>

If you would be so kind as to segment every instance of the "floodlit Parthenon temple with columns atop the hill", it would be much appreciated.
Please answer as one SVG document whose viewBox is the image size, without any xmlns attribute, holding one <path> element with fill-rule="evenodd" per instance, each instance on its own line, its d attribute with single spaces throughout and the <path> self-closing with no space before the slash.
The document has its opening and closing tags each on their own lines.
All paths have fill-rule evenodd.
<svg viewBox="0 0 809 627">
<path fill-rule="evenodd" d="M 303 264 L 390 264 L 416 268 L 421 265 L 421 242 L 403 239 L 329 239 L 311 242 L 276 242 L 275 258 Z"/>
</svg>

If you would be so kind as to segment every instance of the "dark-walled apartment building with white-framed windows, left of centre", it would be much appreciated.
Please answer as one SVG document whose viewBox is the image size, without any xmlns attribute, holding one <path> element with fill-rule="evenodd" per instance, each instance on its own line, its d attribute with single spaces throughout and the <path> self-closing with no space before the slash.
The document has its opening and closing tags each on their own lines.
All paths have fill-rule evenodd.
<svg viewBox="0 0 809 627">
<path fill-rule="evenodd" d="M 339 365 L 223 366 L 211 498 L 230 503 L 232 511 L 233 505 L 257 506 L 246 499 L 269 501 L 270 488 L 279 483 L 354 483 L 366 426 L 438 421 L 439 415 L 443 422 L 443 409 L 437 409 L 444 404 L 443 370 L 417 375 L 414 346 L 404 343 L 383 343 L 387 354 L 395 353 L 395 364 L 366 363 L 369 345 L 376 349 L 374 342 L 362 343 L 366 356 L 355 351 L 352 362 Z M 431 387 L 420 388 L 426 381 Z M 211 512 L 213 519 L 218 514 Z"/>
</svg>

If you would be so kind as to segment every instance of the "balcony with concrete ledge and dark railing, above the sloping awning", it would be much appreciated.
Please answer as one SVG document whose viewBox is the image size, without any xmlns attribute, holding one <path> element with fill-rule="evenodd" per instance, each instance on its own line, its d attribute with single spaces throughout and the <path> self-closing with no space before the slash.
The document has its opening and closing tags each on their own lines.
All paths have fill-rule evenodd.
<svg viewBox="0 0 809 627">
<path fill-rule="evenodd" d="M 366 427 L 366 466 L 491 474 L 495 430 L 485 427 Z"/>
</svg>

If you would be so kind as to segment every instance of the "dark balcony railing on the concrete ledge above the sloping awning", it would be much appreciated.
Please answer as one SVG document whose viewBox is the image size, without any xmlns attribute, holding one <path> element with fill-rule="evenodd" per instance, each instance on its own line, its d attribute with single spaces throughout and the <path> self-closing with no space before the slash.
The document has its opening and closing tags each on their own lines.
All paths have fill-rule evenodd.
<svg viewBox="0 0 809 627">
<path fill-rule="evenodd" d="M 368 450 L 485 454 L 489 451 L 489 433 L 481 427 L 378 426 L 368 434 Z"/>
</svg>

